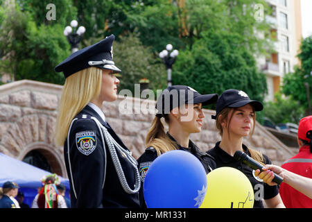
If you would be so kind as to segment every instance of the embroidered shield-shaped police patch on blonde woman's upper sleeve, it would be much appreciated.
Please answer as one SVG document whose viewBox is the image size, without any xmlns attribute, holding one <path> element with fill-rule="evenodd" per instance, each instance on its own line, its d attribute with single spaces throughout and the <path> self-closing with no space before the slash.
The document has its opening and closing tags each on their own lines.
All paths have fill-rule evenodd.
<svg viewBox="0 0 312 222">
<path fill-rule="evenodd" d="M 90 155 L 96 148 L 95 131 L 83 131 L 76 133 L 76 145 L 83 155 Z"/>
</svg>

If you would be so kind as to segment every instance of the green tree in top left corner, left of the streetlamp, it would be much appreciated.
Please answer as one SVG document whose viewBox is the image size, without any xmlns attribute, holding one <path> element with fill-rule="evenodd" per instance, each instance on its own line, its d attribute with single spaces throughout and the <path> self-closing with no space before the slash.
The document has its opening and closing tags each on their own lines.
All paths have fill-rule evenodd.
<svg viewBox="0 0 312 222">
<path fill-rule="evenodd" d="M 51 21 L 46 20 L 49 1 L 8 2 L 0 5 L 1 71 L 12 73 L 15 80 L 64 83 L 62 74 L 55 74 L 53 68 L 70 53 L 63 30 L 73 15 L 71 1 L 55 1 L 57 17 Z"/>
</svg>

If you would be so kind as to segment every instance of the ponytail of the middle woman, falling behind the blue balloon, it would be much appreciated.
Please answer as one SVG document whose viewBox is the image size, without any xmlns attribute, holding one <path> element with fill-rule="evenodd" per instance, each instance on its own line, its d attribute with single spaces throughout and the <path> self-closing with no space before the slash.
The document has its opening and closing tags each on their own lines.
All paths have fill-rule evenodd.
<svg viewBox="0 0 312 222">
<path fill-rule="evenodd" d="M 165 114 L 164 116 L 164 119 L 168 124 L 168 114 Z M 177 144 L 166 135 L 164 131 L 164 125 L 162 124 L 162 121 L 159 117 L 155 117 L 153 119 L 150 130 L 148 130 L 148 133 L 146 135 L 145 144 L 146 147 L 153 146 L 153 148 L 155 148 L 155 150 L 157 151 L 158 156 L 162 153 L 177 149 Z"/>
</svg>

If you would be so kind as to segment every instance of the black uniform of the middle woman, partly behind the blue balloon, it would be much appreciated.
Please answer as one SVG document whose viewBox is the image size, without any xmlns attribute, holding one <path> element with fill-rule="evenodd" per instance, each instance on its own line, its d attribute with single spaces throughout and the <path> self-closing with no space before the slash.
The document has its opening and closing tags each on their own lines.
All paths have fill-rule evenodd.
<svg viewBox="0 0 312 222">
<path fill-rule="evenodd" d="M 171 140 L 173 140 L 173 142 L 175 142 L 177 144 L 175 139 L 169 133 L 167 133 L 167 136 Z M 189 148 L 180 146 L 180 144 L 177 144 L 177 146 L 179 147 L 180 150 L 187 151 L 187 152 L 195 155 L 198 158 L 198 160 L 200 160 L 200 162 L 202 163 L 202 166 L 205 168 L 206 173 L 209 173 L 213 169 L 216 169 L 216 163 L 214 162 L 214 157 L 212 157 L 208 153 L 200 151 L 200 149 L 191 141 L 191 139 L 189 140 Z M 145 178 L 145 175 L 148 171 L 148 167 L 150 167 L 150 164 L 152 164 L 152 162 L 156 158 L 157 158 L 157 151 L 155 150 L 155 148 L 150 146 L 150 147 L 146 148 L 145 152 L 137 160 L 140 178 L 141 178 L 141 188 L 139 190 L 141 207 L 146 207 L 146 203 L 144 200 L 144 193 L 143 193 L 144 178 Z"/>
</svg>

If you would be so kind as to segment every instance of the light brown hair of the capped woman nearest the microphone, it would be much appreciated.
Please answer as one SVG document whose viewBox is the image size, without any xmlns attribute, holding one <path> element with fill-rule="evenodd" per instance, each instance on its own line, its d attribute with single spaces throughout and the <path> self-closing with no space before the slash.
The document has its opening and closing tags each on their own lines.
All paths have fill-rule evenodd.
<svg viewBox="0 0 312 222">
<path fill-rule="evenodd" d="M 227 132 L 229 132 L 229 123 L 232 120 L 232 117 L 234 115 L 236 108 L 224 108 L 223 110 L 221 110 L 221 112 L 218 114 L 218 117 L 216 118 L 216 128 L 218 130 L 218 133 L 220 134 L 220 136 L 222 137 L 223 135 L 223 126 L 221 125 L 221 123 L 225 122 L 227 124 Z M 252 107 L 252 110 L 254 111 L 254 108 Z M 229 114 L 231 114 L 229 116 Z M 229 121 L 227 121 L 229 117 Z M 256 125 L 256 112 L 254 112 L 254 115 L 252 117 L 253 119 L 253 126 Z M 250 137 L 252 137 L 252 135 L 254 134 L 254 127 L 252 128 L 252 131 L 250 133 Z M 264 165 L 264 158 L 263 155 L 259 152 L 259 151 L 255 151 L 251 148 L 248 148 L 248 151 L 252 157 L 252 159 L 257 160 L 258 162 L 260 162 L 261 164 Z"/>
</svg>

